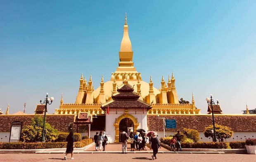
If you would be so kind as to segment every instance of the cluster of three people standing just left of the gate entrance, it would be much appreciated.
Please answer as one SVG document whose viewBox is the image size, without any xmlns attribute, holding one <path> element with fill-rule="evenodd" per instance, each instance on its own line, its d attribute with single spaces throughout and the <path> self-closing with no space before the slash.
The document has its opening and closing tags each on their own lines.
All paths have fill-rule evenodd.
<svg viewBox="0 0 256 162">
<path fill-rule="evenodd" d="M 96 132 L 93 139 L 94 139 L 94 143 L 95 143 L 95 150 L 102 151 L 102 146 L 103 146 L 103 151 L 105 151 L 105 147 L 106 147 L 107 141 L 108 141 L 106 132 L 103 132 L 103 134 L 102 134 L 102 131 L 100 131 L 100 134 L 99 134 L 99 132 Z"/>
</svg>

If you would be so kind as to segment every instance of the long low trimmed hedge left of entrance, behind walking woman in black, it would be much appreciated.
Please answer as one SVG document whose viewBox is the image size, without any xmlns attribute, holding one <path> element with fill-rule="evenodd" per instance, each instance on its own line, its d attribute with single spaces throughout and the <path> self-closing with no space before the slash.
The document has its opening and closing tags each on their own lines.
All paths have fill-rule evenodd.
<svg viewBox="0 0 256 162">
<path fill-rule="evenodd" d="M 82 148 L 92 143 L 92 139 L 84 139 L 75 142 L 76 148 Z M 44 149 L 44 148 L 66 148 L 66 142 L 2 142 L 0 143 L 0 149 Z"/>
</svg>

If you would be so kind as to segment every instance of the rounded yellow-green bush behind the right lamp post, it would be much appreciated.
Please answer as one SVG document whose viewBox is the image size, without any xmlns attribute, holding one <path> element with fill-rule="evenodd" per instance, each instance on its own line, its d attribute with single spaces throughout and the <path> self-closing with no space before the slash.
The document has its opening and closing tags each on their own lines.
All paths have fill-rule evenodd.
<svg viewBox="0 0 256 162">
<path fill-rule="evenodd" d="M 213 130 L 213 125 L 209 125 L 208 127 L 204 128 L 204 136 L 205 137 L 213 137 L 213 134 L 211 134 L 211 130 Z M 218 125 L 215 124 L 215 132 L 216 137 L 220 141 L 223 141 L 223 139 L 228 139 L 233 136 L 234 132 L 231 130 L 230 127 Z"/>
</svg>

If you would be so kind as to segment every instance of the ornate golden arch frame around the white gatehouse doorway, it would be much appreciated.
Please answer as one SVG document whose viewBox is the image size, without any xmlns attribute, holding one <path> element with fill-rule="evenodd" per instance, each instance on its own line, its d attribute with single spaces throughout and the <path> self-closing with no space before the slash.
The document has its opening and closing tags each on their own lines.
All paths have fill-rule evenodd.
<svg viewBox="0 0 256 162">
<path fill-rule="evenodd" d="M 133 122 L 133 130 L 137 130 L 139 123 L 137 121 L 137 118 L 135 118 L 134 116 L 130 115 L 128 113 L 128 109 L 125 110 L 125 113 L 121 116 L 119 116 L 118 118 L 116 118 L 114 126 L 115 126 L 115 130 L 116 130 L 116 135 L 115 135 L 115 143 L 119 143 L 119 124 L 121 122 L 122 119 L 124 118 L 129 118 L 129 120 L 132 120 Z"/>
</svg>

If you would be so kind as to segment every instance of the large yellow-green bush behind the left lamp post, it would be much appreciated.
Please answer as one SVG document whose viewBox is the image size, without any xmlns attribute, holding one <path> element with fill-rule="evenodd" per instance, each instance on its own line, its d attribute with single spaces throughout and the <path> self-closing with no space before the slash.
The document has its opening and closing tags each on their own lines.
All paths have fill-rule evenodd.
<svg viewBox="0 0 256 162">
<path fill-rule="evenodd" d="M 45 134 L 45 141 L 52 142 L 58 137 L 59 131 L 52 127 L 49 123 L 45 122 L 45 129 L 47 130 Z M 24 142 L 39 142 L 42 140 L 43 131 L 43 118 L 42 116 L 35 115 L 30 125 L 25 126 L 21 130 L 21 141 Z"/>
</svg>

